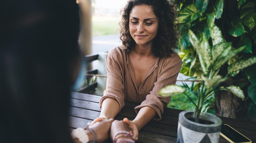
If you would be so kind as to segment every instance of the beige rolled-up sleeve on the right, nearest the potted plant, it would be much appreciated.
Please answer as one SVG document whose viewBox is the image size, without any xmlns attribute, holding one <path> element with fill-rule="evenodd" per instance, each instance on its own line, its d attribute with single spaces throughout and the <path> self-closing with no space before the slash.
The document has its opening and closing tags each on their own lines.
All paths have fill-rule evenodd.
<svg viewBox="0 0 256 143">
<path fill-rule="evenodd" d="M 157 81 L 154 83 L 154 87 L 150 94 L 146 96 L 146 99 L 137 107 L 135 107 L 135 112 L 138 114 L 139 109 L 145 106 L 151 107 L 156 111 L 156 117 L 154 119 L 160 120 L 161 114 L 163 114 L 163 107 L 167 106 L 170 102 L 171 97 L 164 98 L 157 93 L 162 87 L 167 85 L 176 84 L 178 74 L 181 70 L 182 61 L 181 58 L 175 53 L 175 60 L 168 58 L 159 66 L 159 73 L 157 75 Z M 178 56 L 178 57 L 177 57 Z M 172 60 L 171 60 L 172 59 Z"/>
</svg>

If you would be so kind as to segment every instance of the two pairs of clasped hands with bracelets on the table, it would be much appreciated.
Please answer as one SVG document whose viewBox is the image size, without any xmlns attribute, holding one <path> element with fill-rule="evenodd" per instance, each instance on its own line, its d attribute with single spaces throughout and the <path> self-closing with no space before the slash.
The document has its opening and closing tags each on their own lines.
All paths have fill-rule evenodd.
<svg viewBox="0 0 256 143">
<path fill-rule="evenodd" d="M 75 143 L 103 142 L 109 137 L 114 143 L 135 143 L 138 139 L 138 128 L 135 122 L 127 118 L 123 120 L 107 119 L 100 116 L 84 129 L 72 131 Z"/>
</svg>

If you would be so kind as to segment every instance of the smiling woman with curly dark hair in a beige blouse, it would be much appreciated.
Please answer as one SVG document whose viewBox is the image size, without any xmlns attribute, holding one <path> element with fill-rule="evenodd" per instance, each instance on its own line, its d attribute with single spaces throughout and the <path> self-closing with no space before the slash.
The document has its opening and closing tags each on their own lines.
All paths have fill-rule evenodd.
<svg viewBox="0 0 256 143">
<path fill-rule="evenodd" d="M 124 101 L 141 104 L 135 107 L 134 120 L 112 123 L 114 142 L 137 140 L 138 131 L 151 119 L 160 120 L 163 107 L 170 102 L 170 97 L 157 93 L 175 84 L 181 70 L 181 58 L 174 52 L 178 43 L 176 18 L 176 5 L 167 0 L 129 0 L 122 10 L 122 45 L 106 56 L 107 86 L 99 102 L 100 118 L 115 118 Z M 132 132 L 127 132 L 129 129 Z"/>
</svg>

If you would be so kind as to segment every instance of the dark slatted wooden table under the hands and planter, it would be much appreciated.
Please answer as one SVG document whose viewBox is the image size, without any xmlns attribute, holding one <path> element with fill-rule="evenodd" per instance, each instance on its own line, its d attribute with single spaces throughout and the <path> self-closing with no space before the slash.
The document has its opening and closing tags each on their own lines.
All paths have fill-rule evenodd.
<svg viewBox="0 0 256 143">
<path fill-rule="evenodd" d="M 97 118 L 100 113 L 99 99 L 101 96 L 72 92 L 71 93 L 71 112 L 70 127 L 75 129 L 85 127 L 87 122 Z M 127 117 L 134 119 L 136 113 L 134 107 L 139 103 L 125 102 L 125 107 L 118 113 L 115 119 L 122 120 Z M 164 113 L 160 121 L 152 120 L 139 131 L 138 143 L 176 143 L 178 116 L 183 110 L 164 108 Z M 228 124 L 243 135 L 247 136 L 252 142 L 256 142 L 256 122 L 237 120 L 232 118 L 220 117 L 224 124 Z M 110 141 L 106 141 L 110 142 Z M 220 136 L 220 143 L 227 141 Z"/>
</svg>

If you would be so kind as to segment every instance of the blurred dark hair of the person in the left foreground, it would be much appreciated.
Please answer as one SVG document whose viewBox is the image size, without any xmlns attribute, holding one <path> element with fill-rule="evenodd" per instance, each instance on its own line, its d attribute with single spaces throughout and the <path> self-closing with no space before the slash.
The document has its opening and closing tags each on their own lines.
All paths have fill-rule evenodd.
<svg viewBox="0 0 256 143">
<path fill-rule="evenodd" d="M 75 0 L 0 2 L 0 142 L 72 142 L 78 48 Z"/>
</svg>

